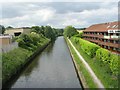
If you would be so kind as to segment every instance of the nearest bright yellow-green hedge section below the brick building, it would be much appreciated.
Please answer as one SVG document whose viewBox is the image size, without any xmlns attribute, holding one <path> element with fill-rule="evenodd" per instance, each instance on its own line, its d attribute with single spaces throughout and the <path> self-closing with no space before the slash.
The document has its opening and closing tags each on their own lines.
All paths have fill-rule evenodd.
<svg viewBox="0 0 120 90">
<path fill-rule="evenodd" d="M 111 72 L 114 75 L 118 75 L 118 58 L 120 56 L 110 53 L 108 50 L 100 48 L 96 51 L 96 59 L 102 61 L 103 63 L 109 65 Z"/>
</svg>

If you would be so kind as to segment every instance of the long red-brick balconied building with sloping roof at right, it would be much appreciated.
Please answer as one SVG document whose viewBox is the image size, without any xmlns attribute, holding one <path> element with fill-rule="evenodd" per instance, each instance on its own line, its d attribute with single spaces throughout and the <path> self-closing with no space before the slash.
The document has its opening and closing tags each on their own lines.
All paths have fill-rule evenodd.
<svg viewBox="0 0 120 90">
<path fill-rule="evenodd" d="M 120 54 L 119 23 L 120 22 L 108 22 L 92 25 L 83 31 L 83 37 L 85 40 L 96 43 L 103 48 Z"/>
</svg>

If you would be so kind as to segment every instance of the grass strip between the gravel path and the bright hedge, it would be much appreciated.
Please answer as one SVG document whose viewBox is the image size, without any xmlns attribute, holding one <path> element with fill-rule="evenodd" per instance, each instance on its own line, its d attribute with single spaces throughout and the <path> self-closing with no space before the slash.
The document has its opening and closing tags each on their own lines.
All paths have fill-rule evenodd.
<svg viewBox="0 0 120 90">
<path fill-rule="evenodd" d="M 80 47 L 80 42 L 76 43 L 75 39 L 79 39 L 77 37 L 72 37 L 70 40 L 72 41 L 73 45 L 79 51 L 79 53 L 83 56 L 83 58 L 87 61 L 90 65 L 92 70 L 95 72 L 97 77 L 101 80 L 105 88 L 117 88 L 118 87 L 118 78 L 117 76 L 111 73 L 111 70 L 107 64 L 103 64 L 100 60 L 97 60 L 96 57 L 90 57 L 87 53 L 83 51 Z M 83 70 L 84 71 L 84 70 Z M 85 78 L 87 78 L 85 76 Z M 88 83 L 90 83 L 89 81 Z M 91 88 L 91 86 L 90 86 Z"/>
</svg>

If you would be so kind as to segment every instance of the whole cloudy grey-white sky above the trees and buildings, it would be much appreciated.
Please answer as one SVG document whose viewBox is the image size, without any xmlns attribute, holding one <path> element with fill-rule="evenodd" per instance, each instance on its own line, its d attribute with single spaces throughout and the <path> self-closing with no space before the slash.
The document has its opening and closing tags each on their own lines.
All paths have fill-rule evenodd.
<svg viewBox="0 0 120 90">
<path fill-rule="evenodd" d="M 2 2 L 0 24 L 76 28 L 118 20 L 118 2 Z"/>
</svg>

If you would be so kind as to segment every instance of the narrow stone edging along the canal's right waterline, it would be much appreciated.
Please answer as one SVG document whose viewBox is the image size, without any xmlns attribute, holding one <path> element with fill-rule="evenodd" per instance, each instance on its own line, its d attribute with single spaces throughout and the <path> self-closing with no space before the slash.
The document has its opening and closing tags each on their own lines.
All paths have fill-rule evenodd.
<svg viewBox="0 0 120 90">
<path fill-rule="evenodd" d="M 87 84 L 86 84 L 86 82 L 85 82 L 85 79 L 84 79 L 83 75 L 82 75 L 81 72 L 79 71 L 79 67 L 77 66 L 77 63 L 76 63 L 76 61 L 75 61 L 75 59 L 74 59 L 74 56 L 73 56 L 73 54 L 72 54 L 72 51 L 71 51 L 71 49 L 70 49 L 68 39 L 65 38 L 65 37 L 64 37 L 64 39 L 65 39 L 65 41 L 66 41 L 66 43 L 67 43 L 67 46 L 68 46 L 68 49 L 69 49 L 69 51 L 70 51 L 70 55 L 71 55 L 71 57 L 72 57 L 72 61 L 73 61 L 73 64 L 74 64 L 75 71 L 76 71 L 77 77 L 78 77 L 78 79 L 79 79 L 79 82 L 80 82 L 80 84 L 81 84 L 81 86 L 82 86 L 82 89 L 85 90 L 85 88 L 88 88 L 88 86 L 87 86 Z"/>
</svg>

